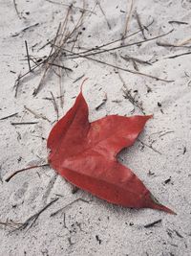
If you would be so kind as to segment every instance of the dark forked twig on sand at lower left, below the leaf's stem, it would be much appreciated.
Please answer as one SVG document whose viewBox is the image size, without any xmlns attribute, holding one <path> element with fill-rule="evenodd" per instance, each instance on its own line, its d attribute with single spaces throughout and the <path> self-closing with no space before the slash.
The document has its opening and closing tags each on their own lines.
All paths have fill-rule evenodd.
<svg viewBox="0 0 191 256">
<path fill-rule="evenodd" d="M 23 229 L 27 228 L 28 226 L 29 226 L 29 228 L 32 227 L 32 225 L 35 223 L 35 221 L 37 221 L 37 219 L 41 215 L 41 213 L 43 213 L 47 208 L 49 208 L 58 199 L 59 198 L 53 199 L 51 202 L 49 202 L 47 205 L 45 205 L 39 212 L 37 212 L 34 215 L 32 215 L 32 217 L 27 219 L 27 221 L 22 223 L 22 225 L 20 225 L 19 227 L 15 228 L 13 231 L 23 230 Z"/>
</svg>

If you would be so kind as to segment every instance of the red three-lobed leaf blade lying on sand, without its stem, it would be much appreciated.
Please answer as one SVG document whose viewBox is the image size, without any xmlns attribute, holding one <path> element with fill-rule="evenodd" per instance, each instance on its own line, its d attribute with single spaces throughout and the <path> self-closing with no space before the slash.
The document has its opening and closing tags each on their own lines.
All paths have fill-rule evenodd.
<svg viewBox="0 0 191 256">
<path fill-rule="evenodd" d="M 49 163 L 74 186 L 111 203 L 153 208 L 174 213 L 161 205 L 130 169 L 117 162 L 117 153 L 133 145 L 152 116 L 109 115 L 93 123 L 82 95 L 50 132 Z"/>
</svg>

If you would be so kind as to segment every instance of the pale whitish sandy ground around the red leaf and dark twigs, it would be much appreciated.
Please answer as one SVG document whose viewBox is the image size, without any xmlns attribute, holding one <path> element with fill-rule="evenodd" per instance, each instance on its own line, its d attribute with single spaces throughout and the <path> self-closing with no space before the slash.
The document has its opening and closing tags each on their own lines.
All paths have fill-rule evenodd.
<svg viewBox="0 0 191 256">
<path fill-rule="evenodd" d="M 104 49 L 145 42 L 92 58 L 167 81 L 86 58 L 62 57 L 60 64 L 73 72 L 52 67 L 35 97 L 32 92 L 41 80 L 43 67 L 20 81 L 16 97 L 13 88 L 18 75 L 29 71 L 25 40 L 32 57 L 49 56 L 50 45 L 42 47 L 55 36 L 68 6 L 45 0 L 16 0 L 16 7 L 18 13 L 13 1 L 0 0 L 0 255 L 191 255 L 191 71 L 190 55 L 181 55 L 190 53 L 191 2 L 135 0 L 131 8 L 131 1 L 101 1 L 100 8 L 96 1 L 85 1 L 81 26 L 64 45 L 66 49 L 84 51 L 131 35 L 140 24 L 143 27 L 153 22 L 143 34 L 139 32 Z M 81 9 L 75 7 L 83 8 L 83 2 L 74 2 L 66 34 L 74 29 L 81 15 Z M 148 40 L 172 29 L 168 35 Z M 121 58 L 127 55 L 150 64 Z M 73 194 L 72 186 L 48 167 L 5 181 L 15 170 L 46 163 L 46 138 L 56 122 L 53 101 L 46 98 L 53 98 L 53 93 L 61 117 L 74 104 L 82 79 L 75 80 L 83 75 L 89 78 L 84 95 L 91 121 L 106 114 L 154 114 L 139 141 L 121 151 L 118 159 L 134 170 L 177 216 L 117 207 L 82 191 Z M 106 95 L 107 101 L 100 105 Z M 17 114 L 2 119 L 14 113 Z M 12 125 L 21 122 L 35 124 Z M 28 220 L 55 198 L 58 199 L 35 222 L 29 221 L 32 225 L 12 232 L 16 223 Z M 63 210 L 52 216 L 60 208 Z M 153 227 L 144 227 L 158 220 L 161 221 Z"/>
</svg>

